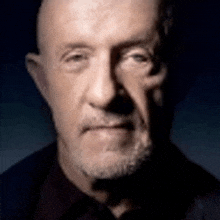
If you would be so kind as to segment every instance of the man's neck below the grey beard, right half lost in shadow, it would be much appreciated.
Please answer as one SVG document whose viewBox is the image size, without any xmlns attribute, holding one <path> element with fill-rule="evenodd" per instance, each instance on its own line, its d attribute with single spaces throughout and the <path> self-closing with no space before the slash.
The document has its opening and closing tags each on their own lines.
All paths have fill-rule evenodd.
<svg viewBox="0 0 220 220">
<path fill-rule="evenodd" d="M 166 150 L 168 149 L 166 148 Z M 158 157 L 158 151 L 159 149 L 155 152 L 154 157 Z M 153 161 L 158 161 L 156 160 L 158 158 L 154 157 L 152 161 L 144 164 L 141 170 L 130 176 L 117 180 L 97 180 L 79 170 L 67 159 L 68 153 L 58 147 L 58 161 L 69 181 L 89 197 L 106 205 L 116 218 L 126 211 L 136 209 L 142 202 L 145 203 L 146 196 L 153 195 L 152 189 L 155 188 L 153 184 L 155 181 L 159 182 L 157 178 L 164 170 L 163 163 L 153 163 Z M 162 160 L 164 160 L 163 157 L 159 158 L 159 161 Z M 155 172 L 156 170 L 157 172 Z"/>
</svg>

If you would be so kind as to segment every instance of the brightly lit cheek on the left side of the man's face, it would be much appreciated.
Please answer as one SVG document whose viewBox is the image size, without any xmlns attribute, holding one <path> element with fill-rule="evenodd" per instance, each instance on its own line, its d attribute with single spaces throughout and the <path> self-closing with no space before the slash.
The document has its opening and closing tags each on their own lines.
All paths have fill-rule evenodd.
<svg viewBox="0 0 220 220">
<path fill-rule="evenodd" d="M 71 132 L 80 116 L 83 86 L 73 75 L 60 72 L 53 72 L 48 80 L 49 105 L 55 126 L 60 131 Z"/>
</svg>

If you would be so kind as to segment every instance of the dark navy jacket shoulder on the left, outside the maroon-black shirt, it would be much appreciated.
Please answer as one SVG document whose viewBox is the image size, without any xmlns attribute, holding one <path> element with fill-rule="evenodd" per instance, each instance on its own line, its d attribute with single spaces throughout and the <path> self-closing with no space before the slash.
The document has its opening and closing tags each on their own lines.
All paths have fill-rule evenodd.
<svg viewBox="0 0 220 220">
<path fill-rule="evenodd" d="M 55 155 L 54 143 L 25 158 L 1 175 L 3 219 L 27 218 L 25 216 L 38 199 L 39 188 L 47 177 Z"/>
</svg>

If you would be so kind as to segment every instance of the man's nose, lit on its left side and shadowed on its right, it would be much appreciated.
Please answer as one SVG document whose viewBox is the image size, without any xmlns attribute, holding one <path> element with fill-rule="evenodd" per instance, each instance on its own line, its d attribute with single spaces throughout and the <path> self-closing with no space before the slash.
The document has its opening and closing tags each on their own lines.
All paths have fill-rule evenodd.
<svg viewBox="0 0 220 220">
<path fill-rule="evenodd" d="M 87 90 L 87 101 L 93 107 L 107 108 L 115 99 L 118 90 L 110 58 L 103 56 L 94 69 Z"/>
</svg>

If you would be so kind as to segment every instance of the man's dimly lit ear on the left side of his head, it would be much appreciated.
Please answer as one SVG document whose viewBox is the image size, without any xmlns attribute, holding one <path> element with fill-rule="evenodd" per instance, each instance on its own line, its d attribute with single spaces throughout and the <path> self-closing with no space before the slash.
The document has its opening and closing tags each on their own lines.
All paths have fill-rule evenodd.
<svg viewBox="0 0 220 220">
<path fill-rule="evenodd" d="M 48 103 L 48 80 L 44 70 L 41 56 L 35 53 L 28 53 L 25 57 L 26 68 L 32 79 L 34 80 L 41 95 Z"/>
</svg>

